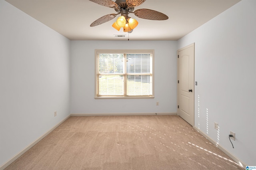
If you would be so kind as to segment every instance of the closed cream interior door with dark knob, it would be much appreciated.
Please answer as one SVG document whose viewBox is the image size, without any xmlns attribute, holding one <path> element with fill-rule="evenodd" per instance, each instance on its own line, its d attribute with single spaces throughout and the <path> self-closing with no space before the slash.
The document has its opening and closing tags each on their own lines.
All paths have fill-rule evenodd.
<svg viewBox="0 0 256 170">
<path fill-rule="evenodd" d="M 178 50 L 178 115 L 194 126 L 194 43 Z"/>
</svg>

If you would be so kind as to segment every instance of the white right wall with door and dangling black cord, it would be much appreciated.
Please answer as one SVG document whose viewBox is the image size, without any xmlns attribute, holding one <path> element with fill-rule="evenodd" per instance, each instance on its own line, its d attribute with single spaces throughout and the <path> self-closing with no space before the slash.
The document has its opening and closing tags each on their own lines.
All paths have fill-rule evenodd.
<svg viewBox="0 0 256 170">
<path fill-rule="evenodd" d="M 178 48 L 195 42 L 195 127 L 248 166 L 256 165 L 255 8 L 242 0 L 178 41 Z"/>
</svg>

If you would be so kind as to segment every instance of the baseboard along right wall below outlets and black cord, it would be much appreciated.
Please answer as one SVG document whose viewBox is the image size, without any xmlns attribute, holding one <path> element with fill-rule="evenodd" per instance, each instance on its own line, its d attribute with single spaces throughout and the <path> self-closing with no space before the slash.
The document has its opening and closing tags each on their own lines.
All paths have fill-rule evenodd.
<svg viewBox="0 0 256 170">
<path fill-rule="evenodd" d="M 206 139 L 208 139 L 212 144 L 214 144 L 217 148 L 219 148 L 222 152 L 224 152 L 226 155 L 228 155 L 231 159 L 233 159 L 238 165 L 246 169 L 246 164 L 238 159 L 236 156 L 234 156 L 232 153 L 230 153 L 226 148 L 222 147 L 220 144 L 217 144 L 212 138 L 210 138 L 207 134 L 202 132 L 200 129 L 194 127 L 196 131 L 198 131 L 200 134 L 202 134 Z"/>
</svg>

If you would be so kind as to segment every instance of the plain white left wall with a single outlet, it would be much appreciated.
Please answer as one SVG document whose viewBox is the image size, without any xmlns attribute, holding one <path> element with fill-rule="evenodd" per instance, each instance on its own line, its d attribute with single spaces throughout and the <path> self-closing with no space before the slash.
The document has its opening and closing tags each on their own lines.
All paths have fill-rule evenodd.
<svg viewBox="0 0 256 170">
<path fill-rule="evenodd" d="M 0 166 L 69 115 L 70 40 L 0 0 Z"/>
</svg>

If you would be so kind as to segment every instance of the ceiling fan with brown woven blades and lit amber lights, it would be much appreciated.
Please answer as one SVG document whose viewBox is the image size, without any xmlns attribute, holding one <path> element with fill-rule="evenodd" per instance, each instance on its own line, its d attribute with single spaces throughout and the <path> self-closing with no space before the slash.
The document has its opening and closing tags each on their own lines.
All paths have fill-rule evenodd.
<svg viewBox="0 0 256 170">
<path fill-rule="evenodd" d="M 138 25 L 138 21 L 133 18 L 130 18 L 128 14 L 133 13 L 138 18 L 143 18 L 147 20 L 167 20 L 168 16 L 154 10 L 149 9 L 138 9 L 134 11 L 134 7 L 139 6 L 146 0 L 116 0 L 115 2 L 112 0 L 90 0 L 96 4 L 114 8 L 117 14 L 108 14 L 102 16 L 98 20 L 94 21 L 90 26 L 98 26 L 105 22 L 108 22 L 114 19 L 117 15 L 121 14 L 120 17 L 114 22 L 112 27 L 116 30 L 120 30 L 123 27 L 124 32 L 131 33 L 133 29 Z"/>
</svg>

